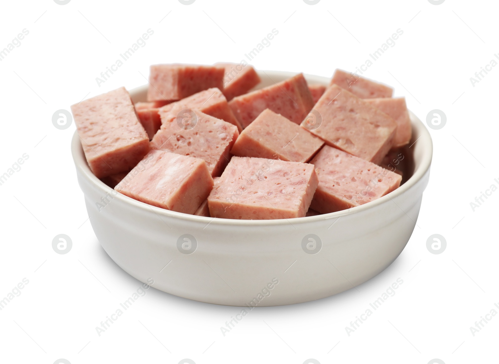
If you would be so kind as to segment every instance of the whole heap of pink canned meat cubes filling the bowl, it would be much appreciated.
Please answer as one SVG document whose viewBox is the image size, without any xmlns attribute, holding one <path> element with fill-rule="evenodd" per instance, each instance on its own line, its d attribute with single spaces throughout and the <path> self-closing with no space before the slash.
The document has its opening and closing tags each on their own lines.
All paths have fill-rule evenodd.
<svg viewBox="0 0 499 364">
<path fill-rule="evenodd" d="M 301 73 L 259 83 L 248 64 L 159 64 L 147 100 L 122 87 L 71 109 L 93 174 L 172 211 L 288 219 L 400 186 L 412 128 L 390 87 L 341 70 L 328 86 Z"/>
</svg>

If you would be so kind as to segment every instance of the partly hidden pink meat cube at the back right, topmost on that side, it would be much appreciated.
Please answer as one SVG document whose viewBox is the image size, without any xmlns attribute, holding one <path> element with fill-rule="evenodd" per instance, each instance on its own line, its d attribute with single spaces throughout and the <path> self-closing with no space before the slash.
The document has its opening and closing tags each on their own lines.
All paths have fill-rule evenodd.
<svg viewBox="0 0 499 364">
<path fill-rule="evenodd" d="M 338 85 L 350 91 L 361 99 L 374 99 L 379 97 L 392 97 L 393 89 L 367 78 L 360 77 L 354 73 L 348 73 L 337 69 L 331 79 L 331 85 Z"/>
</svg>

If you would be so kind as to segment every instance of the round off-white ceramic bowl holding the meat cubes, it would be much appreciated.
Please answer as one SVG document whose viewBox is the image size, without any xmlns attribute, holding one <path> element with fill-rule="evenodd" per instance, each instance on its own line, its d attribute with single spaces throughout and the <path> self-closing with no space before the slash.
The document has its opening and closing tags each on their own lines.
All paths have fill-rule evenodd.
<svg viewBox="0 0 499 364">
<path fill-rule="evenodd" d="M 275 71 L 259 75 L 258 87 L 293 76 Z M 305 77 L 309 83 L 329 83 L 326 77 Z M 132 99 L 144 101 L 146 92 L 147 86 L 134 89 Z M 351 289 L 382 272 L 402 252 L 418 218 L 432 160 L 430 134 L 412 113 L 411 121 L 410 144 L 417 142 L 406 153 L 414 172 L 401 187 L 348 210 L 289 220 L 214 219 L 150 206 L 99 181 L 88 168 L 77 133 L 71 149 L 95 235 L 123 270 L 141 282 L 152 278 L 153 287 L 191 300 L 276 306 Z M 112 198 L 99 211 L 96 203 L 106 195 Z M 184 234 L 195 239 L 187 237 L 190 248 Z M 309 234 L 315 235 L 313 240 Z M 303 248 L 309 242 L 312 250 Z"/>
</svg>

